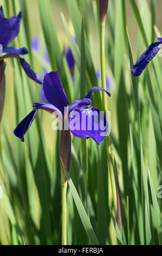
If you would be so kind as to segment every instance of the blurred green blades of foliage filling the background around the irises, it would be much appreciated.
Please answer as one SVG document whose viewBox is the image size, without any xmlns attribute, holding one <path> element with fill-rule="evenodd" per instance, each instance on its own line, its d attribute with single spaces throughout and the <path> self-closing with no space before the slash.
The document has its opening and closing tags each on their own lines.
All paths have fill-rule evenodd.
<svg viewBox="0 0 162 256">
<path fill-rule="evenodd" d="M 70 103 L 82 94 L 82 89 L 88 92 L 92 86 L 99 85 L 95 75 L 95 69 L 100 68 L 97 1 L 0 0 L 0 4 L 7 17 L 22 9 L 21 31 L 14 40 L 15 46 L 28 48 L 26 59 L 39 74 L 43 69 L 59 71 Z M 162 243 L 162 201 L 158 198 L 158 186 L 162 184 L 161 58 L 155 57 L 140 78 L 130 73 L 130 66 L 148 44 L 161 35 L 160 8 L 160 0 L 109 0 L 105 45 L 112 87 L 108 100 L 121 190 L 122 232 L 117 229 L 111 212 L 105 143 L 98 147 L 89 139 L 84 162 L 80 154 L 82 142 L 72 137 L 71 180 L 67 191 L 68 245 L 97 243 L 95 235 L 101 245 Z M 77 45 L 72 40 L 74 34 Z M 32 50 L 32 36 L 39 36 L 40 52 Z M 64 56 L 64 46 L 68 44 L 76 61 L 74 84 Z M 43 57 L 45 46 L 50 64 Z M 82 58 L 84 53 L 86 62 Z M 0 185 L 3 188 L 0 244 L 60 245 L 59 132 L 51 128 L 51 115 L 40 111 L 25 143 L 14 136 L 16 125 L 32 110 L 32 102 L 39 102 L 41 87 L 29 80 L 17 60 L 6 62 L 5 103 L 0 126 Z M 101 94 L 95 95 L 92 102 L 102 109 Z"/>
</svg>

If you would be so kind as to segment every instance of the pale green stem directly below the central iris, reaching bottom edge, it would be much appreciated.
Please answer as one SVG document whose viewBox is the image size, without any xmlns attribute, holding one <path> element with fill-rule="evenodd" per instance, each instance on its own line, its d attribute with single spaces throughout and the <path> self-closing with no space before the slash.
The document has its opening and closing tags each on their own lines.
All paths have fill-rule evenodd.
<svg viewBox="0 0 162 256">
<path fill-rule="evenodd" d="M 67 180 L 65 174 L 61 172 L 61 199 L 62 199 L 62 245 L 67 245 L 67 231 L 66 231 L 66 191 Z"/>
</svg>

